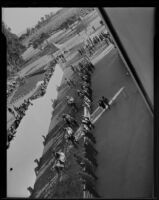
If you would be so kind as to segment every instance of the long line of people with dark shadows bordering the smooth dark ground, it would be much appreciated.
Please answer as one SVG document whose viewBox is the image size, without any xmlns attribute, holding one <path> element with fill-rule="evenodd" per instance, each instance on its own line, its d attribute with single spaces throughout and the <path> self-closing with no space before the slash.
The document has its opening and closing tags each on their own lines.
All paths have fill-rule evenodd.
<svg viewBox="0 0 159 200">
<path fill-rule="evenodd" d="M 80 76 L 82 79 L 82 86 L 80 94 L 82 93 L 83 106 L 89 111 L 91 111 L 92 102 L 92 89 L 91 89 L 91 73 L 94 72 L 94 66 L 88 60 L 85 59 L 84 64 L 80 64 Z M 79 92 L 78 92 L 79 94 Z M 83 116 L 82 119 L 82 132 L 84 134 L 84 159 L 81 160 L 80 157 L 76 156 L 76 161 L 81 167 L 79 172 L 80 180 L 83 184 L 83 191 L 91 193 L 94 197 L 99 197 L 95 189 L 95 181 L 97 177 L 95 175 L 95 169 L 98 166 L 96 161 L 97 151 L 93 147 L 96 143 L 95 137 L 92 134 L 92 129 L 94 125 L 92 124 L 89 116 Z"/>
</svg>

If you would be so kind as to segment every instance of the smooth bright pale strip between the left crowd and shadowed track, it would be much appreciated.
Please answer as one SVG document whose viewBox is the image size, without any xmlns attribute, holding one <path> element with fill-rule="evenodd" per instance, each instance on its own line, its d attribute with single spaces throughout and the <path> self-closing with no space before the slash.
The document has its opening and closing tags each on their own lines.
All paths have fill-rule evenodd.
<svg viewBox="0 0 159 200">
<path fill-rule="evenodd" d="M 43 152 L 42 135 L 48 134 L 52 117 L 52 101 L 56 99 L 56 87 L 61 84 L 63 71 L 56 65 L 44 97 L 32 101 L 22 119 L 7 150 L 7 197 L 28 197 L 27 187 L 35 183 L 34 159 L 39 159 Z M 9 171 L 10 168 L 13 171 Z"/>
</svg>

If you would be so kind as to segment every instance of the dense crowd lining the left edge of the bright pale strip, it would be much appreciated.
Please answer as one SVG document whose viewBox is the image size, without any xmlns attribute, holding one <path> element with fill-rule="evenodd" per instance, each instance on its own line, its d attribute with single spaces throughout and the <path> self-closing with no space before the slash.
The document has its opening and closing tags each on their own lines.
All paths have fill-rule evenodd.
<svg viewBox="0 0 159 200">
<path fill-rule="evenodd" d="M 29 105 L 33 105 L 31 101 L 34 99 L 37 99 L 38 97 L 43 96 L 46 93 L 46 88 L 47 88 L 49 80 L 54 72 L 54 68 L 55 68 L 55 65 L 51 65 L 47 69 L 47 71 L 45 73 L 44 81 L 40 85 L 38 91 L 36 91 L 35 94 L 33 94 L 28 99 L 25 99 L 24 102 L 19 107 L 16 107 L 13 105 L 13 108 L 11 108 L 11 107 L 8 108 L 8 111 L 14 116 L 15 120 L 14 120 L 13 124 L 10 126 L 10 128 L 8 129 L 7 148 L 9 148 L 10 142 L 14 139 L 15 134 L 16 134 L 16 129 L 18 128 L 22 118 L 25 116 L 25 112 L 28 109 Z"/>
</svg>

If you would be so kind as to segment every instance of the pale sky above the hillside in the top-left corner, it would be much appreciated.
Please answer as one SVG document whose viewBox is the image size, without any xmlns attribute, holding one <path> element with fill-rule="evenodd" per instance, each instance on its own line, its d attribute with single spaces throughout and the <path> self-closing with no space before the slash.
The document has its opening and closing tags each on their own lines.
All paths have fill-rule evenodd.
<svg viewBox="0 0 159 200">
<path fill-rule="evenodd" d="M 56 12 L 61 8 L 2 8 L 2 20 L 12 33 L 23 33 L 27 28 L 36 25 L 45 14 Z"/>
</svg>

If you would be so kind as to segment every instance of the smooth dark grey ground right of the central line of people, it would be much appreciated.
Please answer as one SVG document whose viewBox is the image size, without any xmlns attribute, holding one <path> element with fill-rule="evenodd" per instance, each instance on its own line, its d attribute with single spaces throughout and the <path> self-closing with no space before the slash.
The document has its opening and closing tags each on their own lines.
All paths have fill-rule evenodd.
<svg viewBox="0 0 159 200">
<path fill-rule="evenodd" d="M 153 119 L 116 50 L 96 65 L 94 109 L 104 95 L 120 95 L 95 123 L 97 192 L 103 198 L 150 198 L 153 188 Z"/>
</svg>

